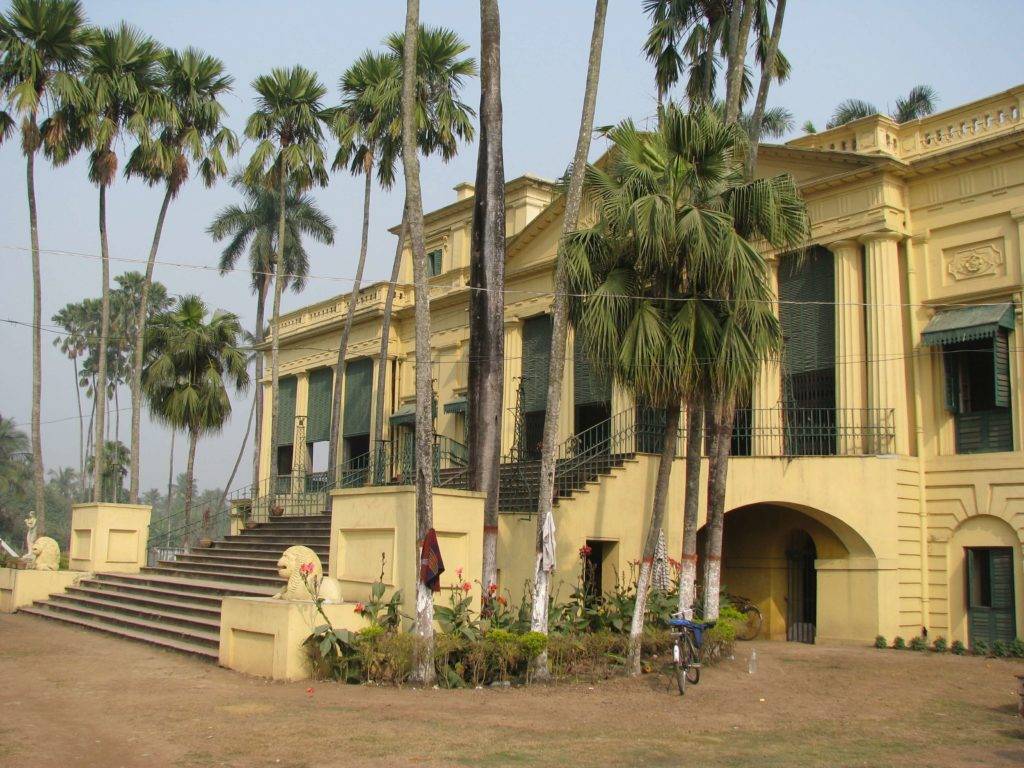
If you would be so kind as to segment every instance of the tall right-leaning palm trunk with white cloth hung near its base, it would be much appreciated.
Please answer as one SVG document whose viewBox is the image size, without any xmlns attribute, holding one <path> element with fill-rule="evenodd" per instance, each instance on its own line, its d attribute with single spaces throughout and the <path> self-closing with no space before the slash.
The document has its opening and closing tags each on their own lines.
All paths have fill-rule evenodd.
<svg viewBox="0 0 1024 768">
<path fill-rule="evenodd" d="M 572 174 L 565 196 L 565 216 L 562 221 L 562 237 L 575 229 L 580 220 L 580 205 L 583 200 L 583 179 L 590 154 L 590 137 L 594 132 L 594 105 L 597 102 L 597 84 L 601 75 L 601 49 L 604 42 L 604 19 L 607 15 L 608 0 L 597 0 L 594 8 L 594 32 L 590 41 L 590 61 L 587 66 L 587 84 L 584 88 L 583 115 L 580 119 L 580 133 L 577 135 L 575 155 L 572 158 Z M 558 442 L 558 417 L 562 402 L 562 381 L 565 374 L 565 336 L 568 328 L 568 276 L 565 260 L 561 254 L 555 262 L 555 290 L 552 300 L 551 362 L 548 370 L 548 410 L 544 415 L 544 442 L 541 449 L 541 486 L 538 492 L 537 508 L 537 565 L 534 570 L 534 606 L 530 629 L 534 632 L 548 632 L 548 595 L 551 592 L 551 571 L 545 569 L 543 561 L 544 528 L 547 516 L 553 514 L 552 502 L 555 495 L 555 447 Z M 547 679 L 548 654 L 541 653 L 534 662 L 534 677 Z"/>
</svg>

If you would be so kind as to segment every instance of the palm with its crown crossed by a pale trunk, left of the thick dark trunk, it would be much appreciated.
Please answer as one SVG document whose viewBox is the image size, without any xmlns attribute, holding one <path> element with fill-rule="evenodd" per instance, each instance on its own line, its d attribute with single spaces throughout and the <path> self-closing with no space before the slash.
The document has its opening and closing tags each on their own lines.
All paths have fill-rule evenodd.
<svg viewBox="0 0 1024 768">
<path fill-rule="evenodd" d="M 372 70 L 366 70 L 365 83 L 353 78 L 347 83 L 347 88 L 343 86 L 346 95 L 360 103 L 360 111 L 369 110 L 378 116 L 379 128 L 374 128 L 379 142 L 377 180 L 385 189 L 391 188 L 394 182 L 395 163 L 401 154 L 400 94 L 404 40 L 404 32 L 390 35 L 385 41 L 387 51 L 381 60 Z M 472 141 L 474 136 L 472 119 L 476 113 L 459 97 L 466 80 L 477 74 L 476 60 L 463 56 L 468 49 L 465 41 L 451 30 L 420 27 L 416 65 L 417 143 L 424 156 L 438 156 L 445 163 L 456 156 L 460 141 Z M 391 310 L 408 237 L 409 227 L 403 211 L 391 265 L 391 279 L 384 299 L 375 395 L 375 444 L 380 443 L 383 438 Z"/>
</svg>

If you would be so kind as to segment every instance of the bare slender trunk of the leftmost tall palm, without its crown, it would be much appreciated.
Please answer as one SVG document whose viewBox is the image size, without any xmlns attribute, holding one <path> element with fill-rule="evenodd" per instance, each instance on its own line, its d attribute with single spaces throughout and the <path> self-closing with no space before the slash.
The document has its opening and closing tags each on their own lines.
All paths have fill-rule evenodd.
<svg viewBox="0 0 1024 768">
<path fill-rule="evenodd" d="M 36 116 L 30 116 L 32 125 Z M 29 197 L 29 238 L 32 245 L 32 486 L 36 503 L 36 532 L 46 532 L 46 480 L 40 429 L 43 397 L 43 284 L 39 266 L 39 218 L 36 210 L 36 151 L 25 158 L 25 181 Z"/>
</svg>

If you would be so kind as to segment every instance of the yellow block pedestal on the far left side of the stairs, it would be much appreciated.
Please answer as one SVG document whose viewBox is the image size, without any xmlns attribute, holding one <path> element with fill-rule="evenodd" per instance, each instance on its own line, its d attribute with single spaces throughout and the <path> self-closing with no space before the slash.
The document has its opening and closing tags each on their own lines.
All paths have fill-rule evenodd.
<svg viewBox="0 0 1024 768">
<path fill-rule="evenodd" d="M 141 504 L 76 504 L 69 564 L 96 573 L 137 573 L 146 562 L 151 512 Z"/>
</svg>

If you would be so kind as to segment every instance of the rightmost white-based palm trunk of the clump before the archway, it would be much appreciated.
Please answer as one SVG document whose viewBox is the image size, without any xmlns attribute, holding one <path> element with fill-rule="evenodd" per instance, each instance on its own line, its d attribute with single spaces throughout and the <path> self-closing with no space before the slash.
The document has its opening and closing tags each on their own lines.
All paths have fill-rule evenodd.
<svg viewBox="0 0 1024 768">
<path fill-rule="evenodd" d="M 720 399 L 715 409 L 715 426 L 708 467 L 708 534 L 703 558 L 703 620 L 718 620 L 722 585 L 722 528 L 725 522 L 725 487 L 732 442 L 732 420 L 736 408 L 731 396 Z"/>
</svg>

